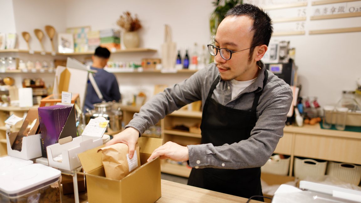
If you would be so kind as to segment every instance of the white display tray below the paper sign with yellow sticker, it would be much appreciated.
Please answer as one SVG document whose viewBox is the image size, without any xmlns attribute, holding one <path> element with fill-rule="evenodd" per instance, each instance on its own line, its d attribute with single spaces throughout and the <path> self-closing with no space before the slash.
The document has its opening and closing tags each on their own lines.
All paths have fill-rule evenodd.
<svg viewBox="0 0 361 203">
<path fill-rule="evenodd" d="M 103 139 L 98 137 L 79 136 L 73 138 L 73 141 L 65 144 L 52 144 L 47 147 L 49 167 L 59 168 L 71 171 L 81 167 L 78 154 L 94 147 L 103 145 Z M 62 162 L 54 161 L 53 158 L 62 155 Z"/>
</svg>

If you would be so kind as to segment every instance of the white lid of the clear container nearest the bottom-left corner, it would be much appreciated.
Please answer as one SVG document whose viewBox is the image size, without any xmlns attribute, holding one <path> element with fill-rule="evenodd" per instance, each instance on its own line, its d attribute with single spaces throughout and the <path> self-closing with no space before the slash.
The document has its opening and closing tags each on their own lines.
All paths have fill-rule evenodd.
<svg viewBox="0 0 361 203">
<path fill-rule="evenodd" d="M 55 183 L 61 175 L 60 170 L 43 164 L 30 164 L 0 174 L 0 193 L 6 196 L 22 195 L 29 190 L 37 190 Z"/>
</svg>

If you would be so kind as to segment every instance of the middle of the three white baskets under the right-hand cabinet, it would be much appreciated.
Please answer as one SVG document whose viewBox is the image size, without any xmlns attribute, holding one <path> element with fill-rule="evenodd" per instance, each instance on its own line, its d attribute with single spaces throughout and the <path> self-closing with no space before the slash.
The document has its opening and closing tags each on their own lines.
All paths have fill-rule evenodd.
<svg viewBox="0 0 361 203">
<path fill-rule="evenodd" d="M 306 162 L 311 162 L 306 163 Z M 306 177 L 319 178 L 325 175 L 327 161 L 319 162 L 313 159 L 299 159 L 295 157 L 294 173 L 296 178 L 304 180 Z"/>
</svg>

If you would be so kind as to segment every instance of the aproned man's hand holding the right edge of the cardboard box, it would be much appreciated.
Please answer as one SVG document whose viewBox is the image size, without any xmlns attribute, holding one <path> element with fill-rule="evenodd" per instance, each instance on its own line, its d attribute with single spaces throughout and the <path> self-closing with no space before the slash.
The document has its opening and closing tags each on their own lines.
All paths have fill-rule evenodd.
<svg viewBox="0 0 361 203">
<path fill-rule="evenodd" d="M 167 142 L 162 146 L 156 148 L 153 151 L 152 155 L 149 157 L 147 161 L 151 161 L 156 157 L 160 157 L 161 159 L 173 159 L 175 161 L 187 161 L 189 159 L 188 156 L 188 147 L 183 147 L 174 142 Z"/>
</svg>

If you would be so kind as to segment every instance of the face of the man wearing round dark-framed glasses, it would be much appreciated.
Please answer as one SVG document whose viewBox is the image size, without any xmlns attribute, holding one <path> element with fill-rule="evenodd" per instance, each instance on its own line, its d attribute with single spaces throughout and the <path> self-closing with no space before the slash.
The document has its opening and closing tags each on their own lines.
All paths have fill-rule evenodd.
<svg viewBox="0 0 361 203">
<path fill-rule="evenodd" d="M 214 46 L 231 51 L 240 51 L 251 47 L 253 39 L 253 20 L 248 16 L 226 17 L 217 29 Z M 215 56 L 217 68 L 223 80 L 236 79 L 246 81 L 255 74 L 256 61 L 253 55 L 249 61 L 250 49 L 232 53 L 230 60 L 225 60 L 219 54 Z"/>
</svg>

